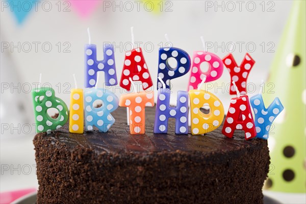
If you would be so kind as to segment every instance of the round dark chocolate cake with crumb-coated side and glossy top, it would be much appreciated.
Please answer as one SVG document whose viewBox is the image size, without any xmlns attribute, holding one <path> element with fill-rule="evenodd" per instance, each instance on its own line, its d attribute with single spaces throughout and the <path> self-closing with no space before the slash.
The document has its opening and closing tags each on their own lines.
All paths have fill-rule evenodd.
<svg viewBox="0 0 306 204">
<path fill-rule="evenodd" d="M 37 203 L 263 203 L 269 169 L 263 139 L 221 134 L 153 134 L 155 107 L 146 108 L 146 134 L 130 135 L 126 109 L 112 113 L 108 133 L 72 134 L 68 124 L 34 138 Z"/>
</svg>

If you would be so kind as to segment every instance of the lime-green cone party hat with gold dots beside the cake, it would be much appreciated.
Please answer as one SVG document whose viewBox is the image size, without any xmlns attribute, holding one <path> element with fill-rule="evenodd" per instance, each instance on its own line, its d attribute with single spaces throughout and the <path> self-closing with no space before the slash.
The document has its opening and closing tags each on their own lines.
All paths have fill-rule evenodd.
<svg viewBox="0 0 306 204">
<path fill-rule="evenodd" d="M 293 1 L 268 79 L 274 93 L 263 95 L 267 103 L 279 96 L 285 107 L 274 120 L 268 139 L 271 165 L 265 188 L 271 191 L 306 191 L 305 8 L 305 1 Z"/>
</svg>

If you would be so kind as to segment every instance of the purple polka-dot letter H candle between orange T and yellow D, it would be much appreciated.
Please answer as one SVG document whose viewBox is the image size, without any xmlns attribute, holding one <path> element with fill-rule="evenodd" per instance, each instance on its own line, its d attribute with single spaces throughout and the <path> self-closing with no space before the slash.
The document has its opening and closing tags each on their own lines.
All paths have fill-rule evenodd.
<svg viewBox="0 0 306 204">
<path fill-rule="evenodd" d="M 175 118 L 175 134 L 188 134 L 188 92 L 177 92 L 176 107 L 170 107 L 170 93 L 167 88 L 158 90 L 154 133 L 167 133 L 168 119 Z"/>
</svg>

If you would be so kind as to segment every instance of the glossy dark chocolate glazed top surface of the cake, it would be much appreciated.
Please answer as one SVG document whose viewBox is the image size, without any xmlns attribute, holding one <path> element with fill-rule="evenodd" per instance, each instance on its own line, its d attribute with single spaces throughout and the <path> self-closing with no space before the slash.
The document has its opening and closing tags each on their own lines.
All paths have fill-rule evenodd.
<svg viewBox="0 0 306 204">
<path fill-rule="evenodd" d="M 236 131 L 233 138 L 226 138 L 222 133 L 222 125 L 215 131 L 205 135 L 176 135 L 175 119 L 168 121 L 168 134 L 154 134 L 155 108 L 145 109 L 146 129 L 143 135 L 131 135 L 126 124 L 126 108 L 119 107 L 112 113 L 116 122 L 107 133 L 99 133 L 97 129 L 84 134 L 69 133 L 68 122 L 49 135 L 40 133 L 36 137 L 50 139 L 52 144 L 60 142 L 73 149 L 81 145 L 96 152 L 161 152 L 161 151 L 199 151 L 220 152 L 237 150 L 246 146 L 259 145 L 262 139 L 244 140 L 244 132 Z M 190 131 L 189 131 L 190 133 Z"/>
</svg>

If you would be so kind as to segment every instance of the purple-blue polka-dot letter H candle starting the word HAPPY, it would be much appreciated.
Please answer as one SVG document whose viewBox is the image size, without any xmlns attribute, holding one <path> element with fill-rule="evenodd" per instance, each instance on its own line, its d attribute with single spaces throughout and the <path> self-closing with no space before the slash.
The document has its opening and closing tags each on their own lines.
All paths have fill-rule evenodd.
<svg viewBox="0 0 306 204">
<path fill-rule="evenodd" d="M 105 85 L 117 85 L 114 49 L 111 44 L 104 45 L 104 60 L 98 61 L 95 44 L 85 45 L 85 87 L 94 87 L 97 72 L 104 71 Z"/>
</svg>

